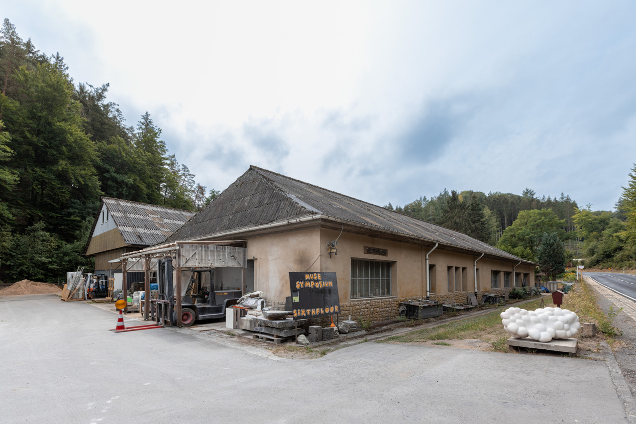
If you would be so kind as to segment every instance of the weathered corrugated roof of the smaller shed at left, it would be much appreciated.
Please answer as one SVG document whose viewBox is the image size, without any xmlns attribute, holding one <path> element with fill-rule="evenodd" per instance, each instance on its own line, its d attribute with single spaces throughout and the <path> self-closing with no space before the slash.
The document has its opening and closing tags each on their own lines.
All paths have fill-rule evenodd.
<svg viewBox="0 0 636 424">
<path fill-rule="evenodd" d="M 152 246 L 183 226 L 195 212 L 102 197 L 114 224 L 126 243 Z"/>
</svg>

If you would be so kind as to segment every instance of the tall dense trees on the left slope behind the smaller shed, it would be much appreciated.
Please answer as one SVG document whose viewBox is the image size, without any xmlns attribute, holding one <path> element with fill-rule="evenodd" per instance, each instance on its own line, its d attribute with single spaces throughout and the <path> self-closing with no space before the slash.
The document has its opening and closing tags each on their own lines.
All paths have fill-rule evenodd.
<svg viewBox="0 0 636 424">
<path fill-rule="evenodd" d="M 0 280 L 55 282 L 79 265 L 100 196 L 198 210 L 218 194 L 169 154 L 148 112 L 134 127 L 109 84 L 75 84 L 10 20 L 0 32 Z"/>
</svg>

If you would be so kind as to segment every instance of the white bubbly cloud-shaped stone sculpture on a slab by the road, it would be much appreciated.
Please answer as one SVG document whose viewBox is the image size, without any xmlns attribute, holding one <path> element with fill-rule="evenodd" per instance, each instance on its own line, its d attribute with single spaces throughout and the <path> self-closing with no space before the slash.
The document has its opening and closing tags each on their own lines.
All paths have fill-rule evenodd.
<svg viewBox="0 0 636 424">
<path fill-rule="evenodd" d="M 569 339 L 581 328 L 576 313 L 561 308 L 539 308 L 535 311 L 508 308 L 500 316 L 504 330 L 515 339 Z"/>
</svg>

